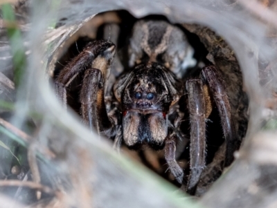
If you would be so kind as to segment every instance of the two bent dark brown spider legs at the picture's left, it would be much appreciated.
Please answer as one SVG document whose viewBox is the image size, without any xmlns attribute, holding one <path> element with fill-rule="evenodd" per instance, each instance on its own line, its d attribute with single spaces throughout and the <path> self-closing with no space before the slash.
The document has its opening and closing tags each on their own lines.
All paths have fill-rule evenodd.
<svg viewBox="0 0 277 208">
<path fill-rule="evenodd" d="M 63 106 L 66 106 L 66 87 L 85 70 L 80 93 L 82 118 L 91 129 L 96 128 L 99 133 L 111 127 L 105 108 L 104 93 L 105 79 L 114 53 L 115 46 L 111 41 L 92 41 L 55 80 L 57 96 L 60 97 Z"/>
</svg>

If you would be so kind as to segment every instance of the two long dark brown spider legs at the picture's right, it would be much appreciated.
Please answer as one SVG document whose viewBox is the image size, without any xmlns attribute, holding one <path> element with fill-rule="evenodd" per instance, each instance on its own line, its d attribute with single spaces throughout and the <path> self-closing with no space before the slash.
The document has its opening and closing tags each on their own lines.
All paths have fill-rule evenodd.
<svg viewBox="0 0 277 208">
<path fill-rule="evenodd" d="M 205 84 L 203 85 L 202 82 Z M 206 152 L 206 124 L 205 119 L 211 114 L 211 97 L 220 112 L 222 129 L 226 140 L 226 154 L 224 166 L 233 162 L 236 149 L 235 127 L 231 118 L 231 106 L 226 94 L 224 82 L 215 66 L 202 69 L 202 79 L 190 79 L 186 82 L 188 92 L 188 109 L 190 111 L 190 178 L 188 192 L 195 191 L 197 182 L 205 167 Z M 211 96 L 210 96 L 211 94 Z"/>
</svg>

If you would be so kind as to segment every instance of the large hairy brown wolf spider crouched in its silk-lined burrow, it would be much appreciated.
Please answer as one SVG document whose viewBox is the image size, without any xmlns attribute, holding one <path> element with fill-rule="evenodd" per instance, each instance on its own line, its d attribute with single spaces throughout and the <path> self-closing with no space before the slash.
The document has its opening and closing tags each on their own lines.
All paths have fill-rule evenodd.
<svg viewBox="0 0 277 208">
<path fill-rule="evenodd" d="M 150 146 L 164 149 L 168 167 L 179 183 L 184 171 L 175 159 L 184 113 L 179 100 L 186 97 L 190 114 L 190 176 L 187 191 L 193 193 L 205 167 L 206 119 L 215 104 L 220 113 L 226 155 L 233 162 L 235 130 L 224 82 L 215 66 L 202 68 L 199 78 L 183 82 L 193 49 L 184 32 L 166 21 L 136 22 L 129 40 L 129 68 L 117 77 L 105 100 L 105 86 L 116 46 L 107 40 L 91 41 L 55 79 L 55 91 L 66 106 L 66 88 L 80 73 L 82 120 L 91 129 L 114 138 L 118 148 Z M 112 103 L 112 104 L 111 104 Z M 170 118 L 171 117 L 171 118 Z M 173 117 L 173 119 L 172 119 Z"/>
</svg>

